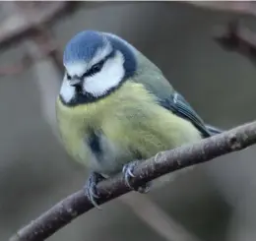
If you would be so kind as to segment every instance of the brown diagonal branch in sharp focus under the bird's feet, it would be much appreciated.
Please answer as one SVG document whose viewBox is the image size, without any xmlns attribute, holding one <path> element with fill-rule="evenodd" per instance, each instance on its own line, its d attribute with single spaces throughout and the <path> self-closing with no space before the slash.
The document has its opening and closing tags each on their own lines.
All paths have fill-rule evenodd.
<svg viewBox="0 0 256 241">
<path fill-rule="evenodd" d="M 209 161 L 228 152 L 243 150 L 255 143 L 256 122 L 252 122 L 193 145 L 184 145 L 172 151 L 161 151 L 135 168 L 132 184 L 142 185 L 169 172 Z M 99 205 L 131 191 L 125 185 L 121 174 L 98 183 L 97 190 Z M 11 237 L 10 241 L 44 240 L 77 216 L 93 208 L 85 192 L 80 190 L 41 214 Z"/>
</svg>

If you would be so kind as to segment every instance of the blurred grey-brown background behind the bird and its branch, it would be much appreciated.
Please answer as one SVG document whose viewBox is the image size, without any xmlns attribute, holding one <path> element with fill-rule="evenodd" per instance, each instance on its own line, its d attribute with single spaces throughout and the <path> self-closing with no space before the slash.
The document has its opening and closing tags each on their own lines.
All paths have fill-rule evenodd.
<svg viewBox="0 0 256 241">
<path fill-rule="evenodd" d="M 252 2 L 1 2 L 0 239 L 85 184 L 86 170 L 58 141 L 54 109 L 75 33 L 130 41 L 206 122 L 228 129 L 255 119 L 256 68 L 213 32 L 233 20 L 256 30 L 255 14 Z M 256 240 L 255 154 L 228 154 L 145 196 L 125 195 L 48 240 Z"/>
</svg>

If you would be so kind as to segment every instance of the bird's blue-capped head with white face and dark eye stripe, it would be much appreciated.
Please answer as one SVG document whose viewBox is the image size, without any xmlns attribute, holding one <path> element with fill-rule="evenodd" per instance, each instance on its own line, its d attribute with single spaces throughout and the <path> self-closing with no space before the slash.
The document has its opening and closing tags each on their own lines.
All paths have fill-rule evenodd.
<svg viewBox="0 0 256 241">
<path fill-rule="evenodd" d="M 134 48 L 122 38 L 106 32 L 85 30 L 66 45 L 63 56 L 66 69 L 60 98 L 64 104 L 96 101 L 136 72 Z"/>
</svg>

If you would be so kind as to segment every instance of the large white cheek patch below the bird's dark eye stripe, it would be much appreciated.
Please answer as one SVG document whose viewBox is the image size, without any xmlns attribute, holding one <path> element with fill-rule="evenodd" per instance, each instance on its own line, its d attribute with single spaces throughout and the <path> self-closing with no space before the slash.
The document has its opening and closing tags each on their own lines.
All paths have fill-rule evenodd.
<svg viewBox="0 0 256 241">
<path fill-rule="evenodd" d="M 117 87 L 125 74 L 123 63 L 123 55 L 117 51 L 113 58 L 105 62 L 100 72 L 86 78 L 83 90 L 92 93 L 94 96 L 100 96 L 106 93 L 107 90 Z"/>
</svg>

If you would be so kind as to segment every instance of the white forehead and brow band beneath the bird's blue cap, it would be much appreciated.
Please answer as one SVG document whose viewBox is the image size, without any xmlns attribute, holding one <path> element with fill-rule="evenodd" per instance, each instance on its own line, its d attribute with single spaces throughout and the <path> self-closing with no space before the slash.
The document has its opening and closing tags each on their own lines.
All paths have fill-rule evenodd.
<svg viewBox="0 0 256 241">
<path fill-rule="evenodd" d="M 113 50 L 112 46 L 109 42 L 98 48 L 96 50 L 96 54 L 94 57 L 89 61 L 74 61 L 65 64 L 65 68 L 70 76 L 82 76 L 87 70 L 89 70 L 93 65 L 98 63 L 100 60 L 104 59 L 108 54 L 111 53 Z"/>
</svg>

